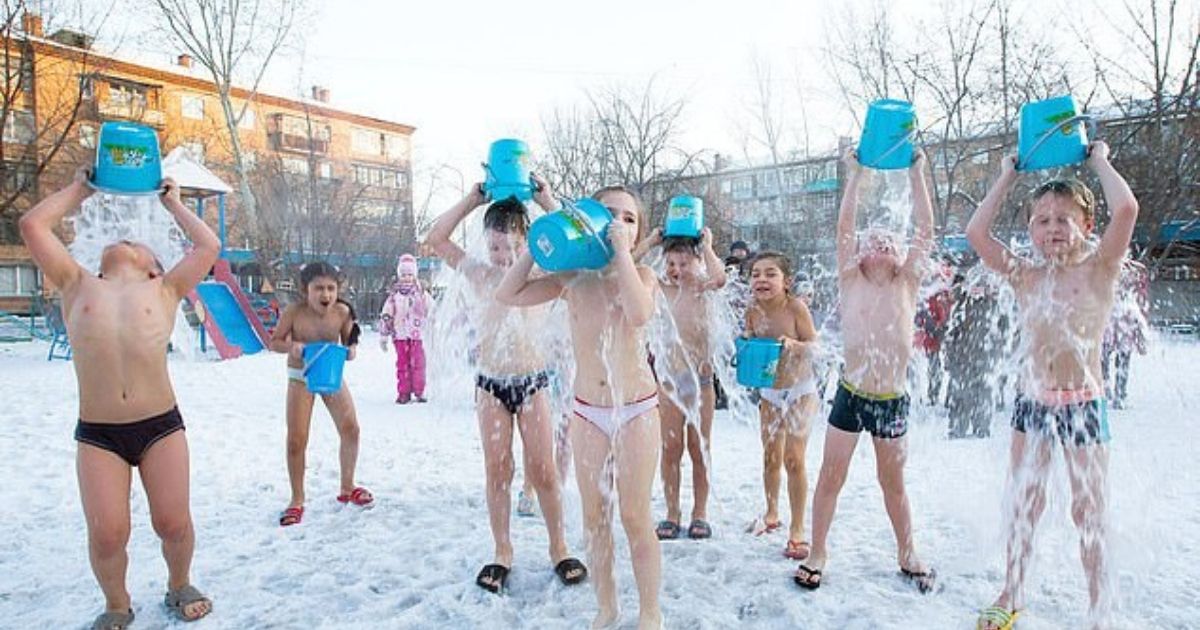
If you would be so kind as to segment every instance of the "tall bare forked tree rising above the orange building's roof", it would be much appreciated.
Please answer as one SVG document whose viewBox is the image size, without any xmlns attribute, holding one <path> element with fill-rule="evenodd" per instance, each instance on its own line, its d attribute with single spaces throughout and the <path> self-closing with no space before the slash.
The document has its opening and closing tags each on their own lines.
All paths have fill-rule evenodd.
<svg viewBox="0 0 1200 630">
<path fill-rule="evenodd" d="M 304 0 L 151 0 L 167 34 L 208 71 L 221 102 L 241 210 L 251 217 L 258 204 L 238 126 L 258 92 L 271 61 L 293 36 Z M 248 96 L 235 103 L 234 86 Z"/>
</svg>

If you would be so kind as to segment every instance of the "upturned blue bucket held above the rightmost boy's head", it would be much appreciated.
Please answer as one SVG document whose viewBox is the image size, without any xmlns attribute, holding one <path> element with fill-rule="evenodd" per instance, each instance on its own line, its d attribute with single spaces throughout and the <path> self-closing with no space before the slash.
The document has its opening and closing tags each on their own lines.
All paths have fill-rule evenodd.
<svg viewBox="0 0 1200 630">
<path fill-rule="evenodd" d="M 1021 106 L 1016 126 L 1018 170 L 1078 164 L 1087 160 L 1087 116 L 1079 115 L 1075 100 L 1056 96 Z"/>
</svg>

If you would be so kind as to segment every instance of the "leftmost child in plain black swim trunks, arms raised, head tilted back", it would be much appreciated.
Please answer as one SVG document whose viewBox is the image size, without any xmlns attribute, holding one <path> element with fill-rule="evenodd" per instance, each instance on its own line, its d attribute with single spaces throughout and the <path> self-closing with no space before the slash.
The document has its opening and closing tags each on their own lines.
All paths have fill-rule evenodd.
<svg viewBox="0 0 1200 630">
<path fill-rule="evenodd" d="M 88 521 L 91 570 L 104 593 L 104 612 L 92 629 L 122 630 L 133 622 L 125 589 L 130 539 L 130 484 L 138 467 L 150 522 L 167 560 L 167 608 L 182 620 L 212 611 L 191 586 L 196 534 L 188 502 L 184 420 L 167 374 L 167 343 L 179 302 L 212 268 L 221 244 L 163 180 L 163 205 L 192 241 L 191 251 L 163 271 L 145 245 L 120 241 L 104 248 L 92 276 L 71 258 L 53 228 L 91 196 L 88 173 L 42 199 L 20 218 L 20 235 L 46 278 L 62 293 L 79 384 L 76 468 Z"/>
</svg>

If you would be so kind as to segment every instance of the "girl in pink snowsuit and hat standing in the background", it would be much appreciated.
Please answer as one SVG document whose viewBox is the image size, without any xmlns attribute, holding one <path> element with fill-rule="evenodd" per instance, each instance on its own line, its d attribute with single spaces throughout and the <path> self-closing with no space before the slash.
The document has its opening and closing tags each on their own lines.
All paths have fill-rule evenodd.
<svg viewBox="0 0 1200 630">
<path fill-rule="evenodd" d="M 388 340 L 396 347 L 396 403 L 425 402 L 425 348 L 421 328 L 430 312 L 430 294 L 416 278 L 416 258 L 403 254 L 396 277 L 383 302 L 379 346 L 388 352 Z"/>
</svg>

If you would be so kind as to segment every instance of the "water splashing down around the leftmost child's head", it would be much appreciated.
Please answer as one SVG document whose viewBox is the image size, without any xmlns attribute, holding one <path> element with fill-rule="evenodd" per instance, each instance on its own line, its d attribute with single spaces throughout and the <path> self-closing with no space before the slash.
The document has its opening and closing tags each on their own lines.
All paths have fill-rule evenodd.
<svg viewBox="0 0 1200 630">
<path fill-rule="evenodd" d="M 163 270 L 169 270 L 184 257 L 187 239 L 157 194 L 108 194 L 96 192 L 83 202 L 70 220 L 74 238 L 68 246 L 71 256 L 89 272 L 100 272 L 100 257 L 104 247 L 121 240 L 145 245 L 154 252 Z M 184 316 L 175 311 L 172 348 L 182 356 L 198 355 L 198 336 Z"/>
</svg>

